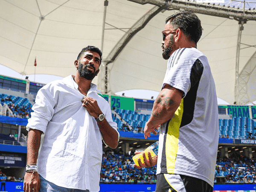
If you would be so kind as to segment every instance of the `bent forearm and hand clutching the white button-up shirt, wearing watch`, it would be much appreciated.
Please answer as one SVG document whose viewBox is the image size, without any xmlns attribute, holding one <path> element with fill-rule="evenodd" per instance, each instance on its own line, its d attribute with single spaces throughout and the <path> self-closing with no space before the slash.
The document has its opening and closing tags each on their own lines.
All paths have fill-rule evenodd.
<svg viewBox="0 0 256 192">
<path fill-rule="evenodd" d="M 99 114 L 102 114 L 102 111 L 97 104 L 97 101 L 90 97 L 84 97 L 81 101 L 82 106 L 87 109 L 88 113 L 97 118 Z M 86 103 L 86 104 L 85 104 Z M 97 122 L 99 130 L 102 134 L 104 142 L 111 148 L 116 148 L 118 145 L 118 134 L 114 128 L 112 128 L 106 119 L 103 119 L 100 122 Z"/>
</svg>

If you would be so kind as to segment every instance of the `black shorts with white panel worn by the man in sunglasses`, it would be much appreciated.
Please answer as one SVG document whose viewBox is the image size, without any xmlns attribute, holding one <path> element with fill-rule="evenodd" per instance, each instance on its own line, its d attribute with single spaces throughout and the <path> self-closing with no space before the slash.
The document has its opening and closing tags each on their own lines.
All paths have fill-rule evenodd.
<svg viewBox="0 0 256 192">
<path fill-rule="evenodd" d="M 176 174 L 157 175 L 155 192 L 212 192 L 213 187 L 204 180 Z"/>
</svg>

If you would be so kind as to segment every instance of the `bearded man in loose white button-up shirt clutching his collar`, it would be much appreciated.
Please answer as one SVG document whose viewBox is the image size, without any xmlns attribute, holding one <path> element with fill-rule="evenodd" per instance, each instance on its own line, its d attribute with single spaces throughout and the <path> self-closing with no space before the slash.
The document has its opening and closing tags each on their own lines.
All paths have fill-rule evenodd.
<svg viewBox="0 0 256 192">
<path fill-rule="evenodd" d="M 119 140 L 111 108 L 91 83 L 99 73 L 101 56 L 97 47 L 82 49 L 74 62 L 76 76 L 38 91 L 26 126 L 24 192 L 99 192 L 102 140 L 111 148 Z"/>
</svg>

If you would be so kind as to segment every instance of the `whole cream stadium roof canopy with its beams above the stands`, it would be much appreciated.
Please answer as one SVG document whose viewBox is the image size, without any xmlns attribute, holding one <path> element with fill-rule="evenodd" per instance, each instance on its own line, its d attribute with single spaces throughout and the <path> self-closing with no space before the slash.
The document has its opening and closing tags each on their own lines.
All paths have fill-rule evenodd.
<svg viewBox="0 0 256 192">
<path fill-rule="evenodd" d="M 102 73 L 94 80 L 103 93 L 105 86 L 108 93 L 160 91 L 165 19 L 190 8 L 204 28 L 198 49 L 208 58 L 218 98 L 245 105 L 256 100 L 256 3 L 245 2 L 0 0 L 0 64 L 23 75 L 65 77 L 76 73 L 81 49 L 94 45 L 103 50 Z"/>
</svg>

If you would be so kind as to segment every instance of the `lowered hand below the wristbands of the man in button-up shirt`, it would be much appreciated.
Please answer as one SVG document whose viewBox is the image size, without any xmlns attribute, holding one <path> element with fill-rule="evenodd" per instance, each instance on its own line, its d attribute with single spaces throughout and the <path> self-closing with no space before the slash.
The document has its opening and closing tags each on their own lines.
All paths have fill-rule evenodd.
<svg viewBox="0 0 256 192">
<path fill-rule="evenodd" d="M 38 172 L 29 172 L 24 176 L 24 192 L 39 192 L 40 189 L 40 179 Z"/>
</svg>

